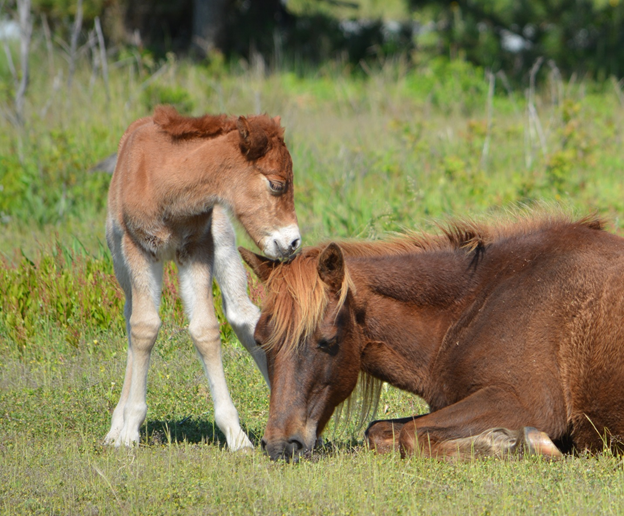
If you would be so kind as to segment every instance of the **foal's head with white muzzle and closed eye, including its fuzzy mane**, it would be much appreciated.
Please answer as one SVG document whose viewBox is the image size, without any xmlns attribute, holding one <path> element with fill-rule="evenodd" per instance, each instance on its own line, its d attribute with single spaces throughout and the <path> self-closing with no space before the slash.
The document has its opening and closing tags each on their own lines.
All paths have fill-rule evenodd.
<svg viewBox="0 0 624 516">
<path fill-rule="evenodd" d="M 287 258 L 301 243 L 293 192 L 293 164 L 280 118 L 267 115 L 185 117 L 158 106 L 154 122 L 177 139 L 225 135 L 225 181 L 218 196 L 269 257 Z M 227 143 L 225 143 L 227 142 Z M 235 154 L 231 150 L 235 149 Z"/>
</svg>

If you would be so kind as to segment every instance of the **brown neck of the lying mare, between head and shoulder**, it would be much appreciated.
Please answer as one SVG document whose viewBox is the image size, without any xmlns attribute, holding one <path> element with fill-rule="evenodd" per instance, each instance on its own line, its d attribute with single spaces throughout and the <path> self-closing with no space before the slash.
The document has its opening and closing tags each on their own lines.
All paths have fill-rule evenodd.
<svg viewBox="0 0 624 516">
<path fill-rule="evenodd" d="M 362 370 L 431 402 L 436 394 L 430 366 L 471 297 L 467 253 L 421 252 L 348 263 L 365 339 Z"/>
</svg>

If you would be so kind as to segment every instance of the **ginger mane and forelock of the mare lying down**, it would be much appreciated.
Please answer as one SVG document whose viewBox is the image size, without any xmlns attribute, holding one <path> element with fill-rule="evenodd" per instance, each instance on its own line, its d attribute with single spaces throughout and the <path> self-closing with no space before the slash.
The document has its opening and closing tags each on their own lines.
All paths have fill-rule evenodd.
<svg viewBox="0 0 624 516">
<path fill-rule="evenodd" d="M 397 256 L 412 253 L 456 251 L 472 253 L 478 249 L 505 239 L 529 235 L 544 230 L 585 227 L 602 230 L 605 221 L 592 215 L 578 220 L 562 214 L 524 213 L 513 215 L 511 222 L 480 223 L 475 220 L 459 220 L 437 224 L 437 233 L 406 232 L 394 238 L 380 241 L 337 242 L 346 257 Z M 265 310 L 272 314 L 273 333 L 267 347 L 279 346 L 286 352 L 294 351 L 314 331 L 328 303 L 329 289 L 317 272 L 318 257 L 327 243 L 305 248 L 290 262 L 277 265 L 266 282 Z M 344 303 L 348 291 L 355 286 L 345 267 L 345 279 L 340 291 Z M 360 425 L 374 413 L 381 382 L 365 373 L 360 374 L 358 390 L 360 397 Z M 346 401 L 347 418 L 351 413 L 352 398 Z M 338 410 L 338 414 L 342 409 Z M 340 416 L 338 416 L 340 417 Z"/>
</svg>

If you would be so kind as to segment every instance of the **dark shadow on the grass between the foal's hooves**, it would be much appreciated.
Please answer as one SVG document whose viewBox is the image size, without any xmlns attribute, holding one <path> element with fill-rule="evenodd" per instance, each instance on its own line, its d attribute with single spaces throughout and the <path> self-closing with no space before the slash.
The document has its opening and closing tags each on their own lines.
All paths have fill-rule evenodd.
<svg viewBox="0 0 624 516">
<path fill-rule="evenodd" d="M 263 429 L 243 427 L 243 431 L 254 446 L 260 446 Z M 148 445 L 173 444 L 185 441 L 192 444 L 214 444 L 221 448 L 227 445 L 225 435 L 214 421 L 190 417 L 148 421 L 141 428 L 141 441 Z"/>
</svg>

